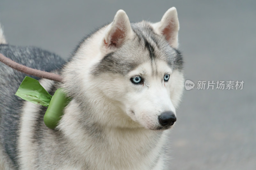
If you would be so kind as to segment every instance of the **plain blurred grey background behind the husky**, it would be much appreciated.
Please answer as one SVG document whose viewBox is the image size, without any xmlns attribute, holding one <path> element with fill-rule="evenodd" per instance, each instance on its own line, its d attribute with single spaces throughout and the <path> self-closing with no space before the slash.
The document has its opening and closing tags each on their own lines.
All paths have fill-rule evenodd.
<svg viewBox="0 0 256 170">
<path fill-rule="evenodd" d="M 186 78 L 244 80 L 243 90 L 184 92 L 170 137 L 170 169 L 256 169 L 256 1 L 0 1 L 7 41 L 67 58 L 80 39 L 113 20 L 157 22 L 175 6 Z"/>
</svg>

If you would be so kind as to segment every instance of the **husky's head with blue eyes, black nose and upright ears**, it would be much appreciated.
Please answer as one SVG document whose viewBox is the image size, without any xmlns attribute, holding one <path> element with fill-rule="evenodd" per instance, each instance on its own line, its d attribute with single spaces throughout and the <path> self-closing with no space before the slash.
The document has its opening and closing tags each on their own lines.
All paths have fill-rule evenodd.
<svg viewBox="0 0 256 170">
<path fill-rule="evenodd" d="M 80 43 L 65 67 L 64 88 L 84 108 L 93 106 L 101 123 L 168 129 L 184 81 L 178 31 L 174 7 L 158 23 L 130 23 L 119 10 L 112 23 Z"/>
</svg>

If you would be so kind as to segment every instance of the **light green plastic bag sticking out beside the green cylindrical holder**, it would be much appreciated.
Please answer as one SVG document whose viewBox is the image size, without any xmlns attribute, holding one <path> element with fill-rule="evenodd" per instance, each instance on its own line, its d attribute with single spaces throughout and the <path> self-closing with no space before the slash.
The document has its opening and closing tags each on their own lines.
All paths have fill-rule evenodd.
<svg viewBox="0 0 256 170">
<path fill-rule="evenodd" d="M 28 76 L 24 78 L 15 95 L 21 99 L 47 107 L 52 100 L 52 96 L 40 85 L 38 80 Z"/>
</svg>

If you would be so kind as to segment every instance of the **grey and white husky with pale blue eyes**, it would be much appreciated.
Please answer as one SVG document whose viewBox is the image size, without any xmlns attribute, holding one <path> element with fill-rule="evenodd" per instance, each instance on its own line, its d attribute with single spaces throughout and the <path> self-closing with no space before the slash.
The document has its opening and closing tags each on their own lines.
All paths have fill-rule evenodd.
<svg viewBox="0 0 256 170">
<path fill-rule="evenodd" d="M 3 169 L 169 169 L 166 147 L 183 90 L 179 21 L 174 7 L 160 22 L 130 23 L 123 10 L 84 38 L 68 62 L 34 47 L 6 44 L 0 53 L 53 71 L 63 83 L 40 79 L 51 94 L 72 100 L 53 130 L 46 107 L 14 93 L 25 74 L 0 63 L 0 167 Z"/>
</svg>

